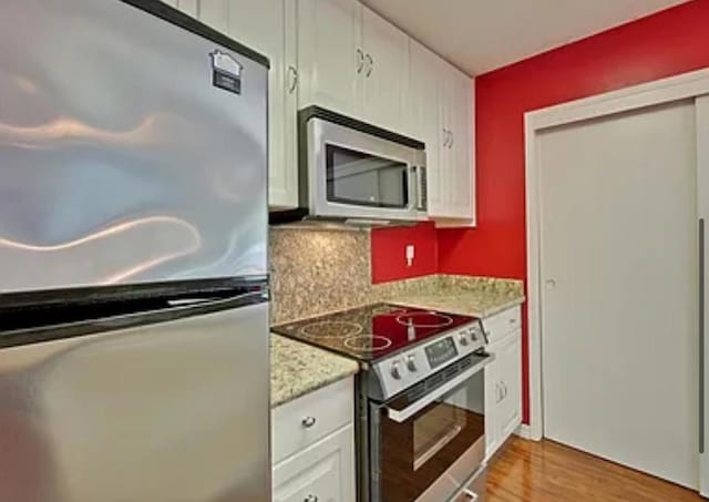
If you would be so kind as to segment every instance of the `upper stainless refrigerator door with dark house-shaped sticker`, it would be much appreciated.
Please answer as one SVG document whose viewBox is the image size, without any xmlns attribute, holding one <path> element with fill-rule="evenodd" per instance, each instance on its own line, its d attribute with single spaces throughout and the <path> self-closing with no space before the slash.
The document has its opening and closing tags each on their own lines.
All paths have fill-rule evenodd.
<svg viewBox="0 0 709 502">
<path fill-rule="evenodd" d="M 120 0 L 3 2 L 0 293 L 266 274 L 267 81 Z"/>
</svg>

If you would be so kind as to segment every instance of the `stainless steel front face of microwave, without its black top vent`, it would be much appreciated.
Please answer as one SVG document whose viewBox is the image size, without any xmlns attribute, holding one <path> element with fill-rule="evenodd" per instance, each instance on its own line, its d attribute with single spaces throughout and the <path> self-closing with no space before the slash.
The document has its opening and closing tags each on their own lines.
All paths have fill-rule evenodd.
<svg viewBox="0 0 709 502">
<path fill-rule="evenodd" d="M 417 221 L 425 153 L 372 134 L 308 122 L 310 212 L 317 217 Z"/>
</svg>

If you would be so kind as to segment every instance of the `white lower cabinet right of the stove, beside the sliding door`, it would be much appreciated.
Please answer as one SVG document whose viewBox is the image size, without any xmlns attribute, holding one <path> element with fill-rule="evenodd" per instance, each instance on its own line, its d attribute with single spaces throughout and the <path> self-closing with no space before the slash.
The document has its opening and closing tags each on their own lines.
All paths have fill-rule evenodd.
<svg viewBox="0 0 709 502">
<path fill-rule="evenodd" d="M 522 423 L 520 308 L 483 320 L 495 360 L 485 368 L 485 453 L 492 457 Z M 506 331 L 501 326 L 507 326 Z M 493 329 L 494 328 L 494 329 Z M 492 338 L 494 336 L 494 338 Z"/>
</svg>

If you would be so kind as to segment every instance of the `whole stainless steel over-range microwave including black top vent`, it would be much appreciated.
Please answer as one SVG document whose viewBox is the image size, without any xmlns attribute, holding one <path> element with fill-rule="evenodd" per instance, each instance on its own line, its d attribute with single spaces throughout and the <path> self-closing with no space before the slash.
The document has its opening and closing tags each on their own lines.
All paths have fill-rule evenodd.
<svg viewBox="0 0 709 502">
<path fill-rule="evenodd" d="M 299 113 L 300 219 L 427 217 L 425 145 L 317 106 Z"/>
</svg>

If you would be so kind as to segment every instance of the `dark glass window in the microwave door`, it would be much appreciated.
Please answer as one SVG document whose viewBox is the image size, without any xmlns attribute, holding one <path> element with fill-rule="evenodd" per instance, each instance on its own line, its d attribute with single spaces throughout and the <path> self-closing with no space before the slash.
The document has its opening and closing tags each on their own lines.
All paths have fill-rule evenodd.
<svg viewBox="0 0 709 502">
<path fill-rule="evenodd" d="M 409 206 L 409 166 L 405 162 L 326 144 L 329 202 L 368 207 Z"/>
</svg>

